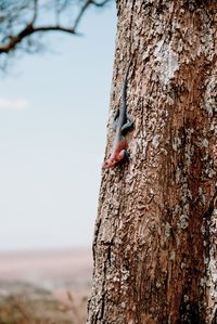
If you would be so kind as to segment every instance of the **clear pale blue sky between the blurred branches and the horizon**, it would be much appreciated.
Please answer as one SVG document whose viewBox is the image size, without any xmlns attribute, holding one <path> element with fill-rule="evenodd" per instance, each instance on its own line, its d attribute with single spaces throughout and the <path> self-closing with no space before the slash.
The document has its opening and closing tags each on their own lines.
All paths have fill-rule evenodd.
<svg viewBox="0 0 217 324">
<path fill-rule="evenodd" d="M 0 249 L 90 246 L 114 60 L 116 13 L 91 10 L 84 37 L 50 34 L 0 78 Z"/>
</svg>

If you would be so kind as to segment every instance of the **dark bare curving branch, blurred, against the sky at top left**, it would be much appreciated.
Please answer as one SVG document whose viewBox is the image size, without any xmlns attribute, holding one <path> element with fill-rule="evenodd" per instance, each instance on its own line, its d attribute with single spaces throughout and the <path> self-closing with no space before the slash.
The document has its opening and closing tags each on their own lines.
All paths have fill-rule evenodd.
<svg viewBox="0 0 217 324">
<path fill-rule="evenodd" d="M 2 41 L 0 41 L 0 54 L 12 52 L 18 43 L 21 43 L 25 38 L 30 37 L 36 33 L 44 33 L 44 31 L 63 31 L 71 35 L 80 35 L 77 33 L 77 27 L 80 23 L 80 20 L 85 15 L 87 9 L 90 5 L 93 7 L 103 7 L 111 0 L 103 0 L 101 2 L 94 0 L 86 0 L 85 3 L 79 9 L 77 16 L 75 17 L 74 23 L 71 26 L 64 26 L 60 24 L 59 17 L 66 10 L 67 5 L 72 7 L 74 2 L 69 0 L 60 1 L 60 7 L 55 7 L 56 12 L 56 22 L 54 24 L 48 24 L 42 26 L 36 26 L 36 21 L 39 15 L 39 11 L 42 10 L 42 7 L 39 7 L 39 0 L 31 0 L 33 2 L 28 2 L 26 0 L 22 1 L 7 1 L 5 13 L 2 15 L 2 23 L 0 25 L 0 37 Z M 58 0 L 56 0 L 58 1 Z M 34 7 L 33 7 L 34 3 Z M 79 3 L 79 1 L 78 1 Z M 47 9 L 53 7 L 53 2 L 48 2 Z M 56 9 L 58 8 L 58 9 Z M 33 17 L 27 18 L 29 13 L 28 11 L 33 10 Z M 26 16 L 23 16 L 23 12 L 25 12 Z M 29 21 L 29 23 L 27 23 Z M 14 34 L 15 29 L 20 29 L 17 34 Z"/>
</svg>

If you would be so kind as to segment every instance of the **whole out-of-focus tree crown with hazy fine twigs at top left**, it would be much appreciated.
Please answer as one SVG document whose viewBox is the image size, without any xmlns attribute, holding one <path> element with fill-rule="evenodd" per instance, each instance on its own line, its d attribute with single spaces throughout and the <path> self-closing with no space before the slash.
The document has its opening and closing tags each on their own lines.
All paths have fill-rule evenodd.
<svg viewBox="0 0 217 324">
<path fill-rule="evenodd" d="M 0 1 L 0 68 L 14 53 L 36 53 L 46 48 L 44 34 L 62 31 L 80 36 L 78 26 L 92 7 L 111 0 L 7 0 Z M 61 44 L 60 44 L 61 47 Z"/>
</svg>

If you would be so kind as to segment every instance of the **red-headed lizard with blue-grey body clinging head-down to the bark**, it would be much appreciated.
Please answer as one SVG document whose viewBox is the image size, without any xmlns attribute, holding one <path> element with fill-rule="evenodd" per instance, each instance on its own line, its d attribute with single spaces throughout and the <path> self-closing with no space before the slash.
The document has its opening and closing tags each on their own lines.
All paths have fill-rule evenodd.
<svg viewBox="0 0 217 324">
<path fill-rule="evenodd" d="M 127 152 L 127 140 L 125 138 L 125 134 L 133 126 L 132 118 L 127 114 L 127 82 L 130 65 L 131 61 L 128 65 L 126 76 L 123 82 L 122 106 L 117 111 L 114 118 L 115 135 L 113 141 L 112 153 L 111 156 L 103 164 L 103 169 L 114 168 L 124 160 L 129 159 L 129 153 Z"/>
</svg>

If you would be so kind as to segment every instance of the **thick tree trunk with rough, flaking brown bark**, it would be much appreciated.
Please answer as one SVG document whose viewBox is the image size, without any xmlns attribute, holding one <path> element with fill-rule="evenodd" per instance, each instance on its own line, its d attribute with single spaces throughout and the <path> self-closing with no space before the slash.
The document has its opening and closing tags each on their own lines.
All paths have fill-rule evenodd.
<svg viewBox="0 0 217 324">
<path fill-rule="evenodd" d="M 117 0 L 130 160 L 102 173 L 89 324 L 217 323 L 217 1 Z"/>
</svg>

